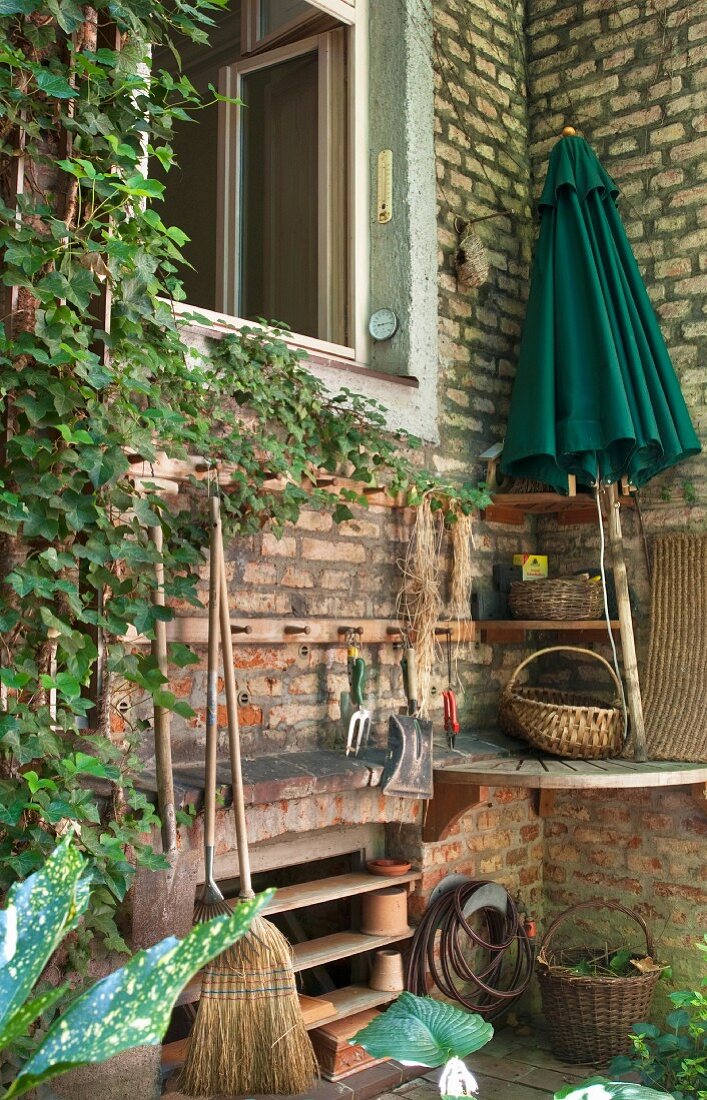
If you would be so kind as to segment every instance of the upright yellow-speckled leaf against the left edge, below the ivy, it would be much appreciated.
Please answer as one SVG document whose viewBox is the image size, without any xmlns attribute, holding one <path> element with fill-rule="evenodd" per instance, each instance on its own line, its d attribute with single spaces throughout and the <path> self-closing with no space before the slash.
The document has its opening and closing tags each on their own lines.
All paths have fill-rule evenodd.
<svg viewBox="0 0 707 1100">
<path fill-rule="evenodd" d="M 0 1031 L 26 1001 L 49 956 L 88 905 L 85 860 L 68 838 L 44 867 L 8 894 L 18 912 L 18 946 L 0 969 Z"/>
</svg>

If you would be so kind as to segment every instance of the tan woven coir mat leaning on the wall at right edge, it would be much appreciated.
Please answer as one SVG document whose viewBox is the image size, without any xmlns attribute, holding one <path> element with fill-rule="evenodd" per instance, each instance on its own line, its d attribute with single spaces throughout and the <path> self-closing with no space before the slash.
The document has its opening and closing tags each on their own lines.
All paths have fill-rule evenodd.
<svg viewBox="0 0 707 1100">
<path fill-rule="evenodd" d="M 707 536 L 653 544 L 643 712 L 649 760 L 707 762 Z"/>
</svg>

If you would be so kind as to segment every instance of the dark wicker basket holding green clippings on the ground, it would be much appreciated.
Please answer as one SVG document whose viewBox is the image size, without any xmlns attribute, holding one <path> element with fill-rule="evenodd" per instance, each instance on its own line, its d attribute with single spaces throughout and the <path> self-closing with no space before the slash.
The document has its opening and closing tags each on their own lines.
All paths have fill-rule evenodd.
<svg viewBox="0 0 707 1100">
<path fill-rule="evenodd" d="M 552 1052 L 563 1062 L 608 1062 L 630 1047 L 633 1024 L 647 1020 L 660 970 L 628 978 L 594 978 L 571 974 L 566 967 L 586 958 L 586 948 L 562 954 L 552 938 L 568 917 L 579 910 L 608 909 L 625 913 L 640 926 L 645 954 L 653 955 L 653 939 L 645 922 L 617 902 L 583 902 L 562 913 L 548 928 L 535 964 L 542 1009 L 548 1022 Z"/>
</svg>

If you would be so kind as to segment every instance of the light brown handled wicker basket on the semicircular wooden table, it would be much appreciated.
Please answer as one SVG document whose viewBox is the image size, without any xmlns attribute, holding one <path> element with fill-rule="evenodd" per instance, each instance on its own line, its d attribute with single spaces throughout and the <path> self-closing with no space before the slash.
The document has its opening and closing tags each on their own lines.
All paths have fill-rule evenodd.
<svg viewBox="0 0 707 1100">
<path fill-rule="evenodd" d="M 617 700 L 599 703 L 595 695 L 516 683 L 518 673 L 530 661 L 559 652 L 582 653 L 599 661 L 614 681 Z M 575 760 L 620 756 L 625 732 L 621 695 L 616 672 L 599 653 L 574 646 L 551 646 L 520 662 L 501 693 L 498 722 L 504 733 L 522 737 L 534 748 L 555 756 Z"/>
</svg>

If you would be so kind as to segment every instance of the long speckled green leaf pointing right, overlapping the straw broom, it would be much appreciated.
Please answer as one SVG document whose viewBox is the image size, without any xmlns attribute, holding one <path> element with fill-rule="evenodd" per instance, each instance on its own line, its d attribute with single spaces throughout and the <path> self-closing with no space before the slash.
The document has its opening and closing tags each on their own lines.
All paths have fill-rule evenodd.
<svg viewBox="0 0 707 1100">
<path fill-rule="evenodd" d="M 183 939 L 169 936 L 139 952 L 120 970 L 74 1001 L 49 1027 L 36 1054 L 5 1093 L 22 1096 L 74 1066 L 107 1058 L 133 1046 L 154 1046 L 167 1030 L 174 1002 L 189 979 L 247 931 L 273 891 L 242 902 L 230 916 L 198 924 Z"/>
</svg>

